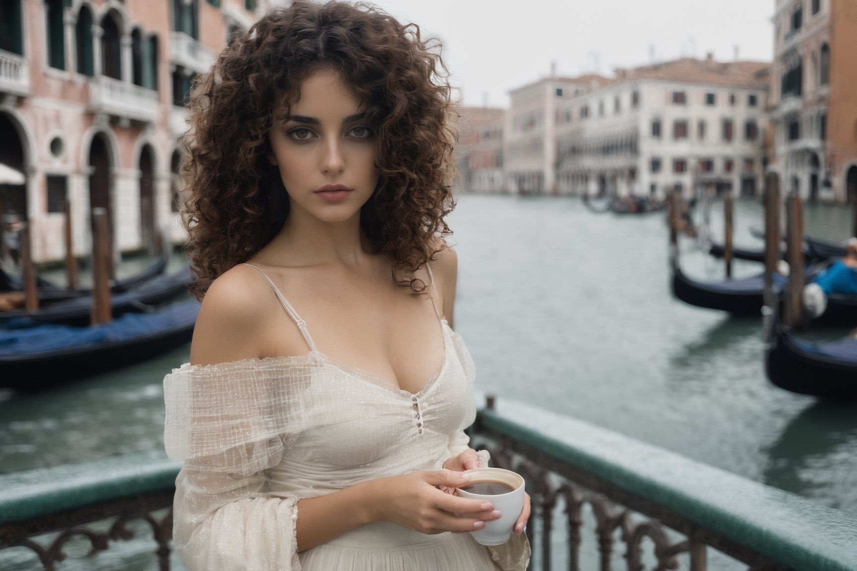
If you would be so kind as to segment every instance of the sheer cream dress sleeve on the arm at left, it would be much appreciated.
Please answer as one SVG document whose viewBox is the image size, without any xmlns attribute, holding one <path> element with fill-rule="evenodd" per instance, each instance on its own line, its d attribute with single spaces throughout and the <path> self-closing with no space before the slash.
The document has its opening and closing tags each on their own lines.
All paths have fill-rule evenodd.
<svg viewBox="0 0 857 571">
<path fill-rule="evenodd" d="M 299 358 L 189 366 L 164 379 L 164 443 L 184 465 L 173 539 L 189 571 L 297 571 L 297 501 L 267 493 L 301 431 L 311 372 Z"/>
</svg>

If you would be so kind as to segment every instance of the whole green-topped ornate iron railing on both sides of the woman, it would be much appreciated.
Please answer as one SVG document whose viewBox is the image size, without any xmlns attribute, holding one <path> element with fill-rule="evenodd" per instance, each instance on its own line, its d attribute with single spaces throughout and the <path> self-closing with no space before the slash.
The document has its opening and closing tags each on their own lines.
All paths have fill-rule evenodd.
<svg viewBox="0 0 857 571">
<path fill-rule="evenodd" d="M 489 398 L 471 432 L 527 480 L 533 569 L 857 571 L 857 516 L 520 402 Z M 140 520 L 168 571 L 178 468 L 122 456 L 0 476 L 0 567 L 19 547 L 51 571 L 73 538 L 98 557 Z"/>
</svg>

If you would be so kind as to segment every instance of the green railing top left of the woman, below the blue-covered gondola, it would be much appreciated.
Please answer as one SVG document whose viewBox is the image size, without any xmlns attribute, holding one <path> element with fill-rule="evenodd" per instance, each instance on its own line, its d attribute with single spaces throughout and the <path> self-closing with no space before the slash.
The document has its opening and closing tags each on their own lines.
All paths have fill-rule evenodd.
<svg viewBox="0 0 857 571">
<path fill-rule="evenodd" d="M 3 474 L 0 525 L 169 490 L 181 467 L 164 455 L 135 454 Z"/>
</svg>

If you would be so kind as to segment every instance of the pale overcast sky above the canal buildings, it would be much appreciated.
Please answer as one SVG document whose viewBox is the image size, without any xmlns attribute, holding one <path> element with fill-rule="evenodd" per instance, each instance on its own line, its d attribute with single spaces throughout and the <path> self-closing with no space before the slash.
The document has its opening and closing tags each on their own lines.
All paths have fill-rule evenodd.
<svg viewBox="0 0 857 571">
<path fill-rule="evenodd" d="M 464 104 L 507 107 L 507 92 L 681 56 L 770 61 L 775 0 L 375 0 L 443 41 Z M 650 48 L 653 46 L 653 48 Z"/>
</svg>

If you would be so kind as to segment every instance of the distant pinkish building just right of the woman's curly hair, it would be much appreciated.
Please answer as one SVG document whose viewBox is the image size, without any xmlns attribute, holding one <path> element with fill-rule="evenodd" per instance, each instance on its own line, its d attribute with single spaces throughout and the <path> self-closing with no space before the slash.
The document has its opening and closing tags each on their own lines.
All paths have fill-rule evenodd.
<svg viewBox="0 0 857 571">
<path fill-rule="evenodd" d="M 503 192 L 505 122 L 504 109 L 458 108 L 458 187 L 473 193 Z"/>
</svg>

